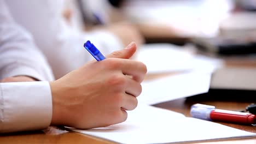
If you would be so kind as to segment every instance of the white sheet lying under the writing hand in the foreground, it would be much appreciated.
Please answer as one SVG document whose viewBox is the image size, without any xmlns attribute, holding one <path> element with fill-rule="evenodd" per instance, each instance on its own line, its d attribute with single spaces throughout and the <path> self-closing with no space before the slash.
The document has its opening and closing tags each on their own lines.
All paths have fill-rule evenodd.
<svg viewBox="0 0 256 144">
<path fill-rule="evenodd" d="M 120 143 L 167 143 L 256 136 L 218 123 L 188 118 L 181 113 L 139 104 L 125 122 L 106 128 L 72 129 Z"/>
</svg>

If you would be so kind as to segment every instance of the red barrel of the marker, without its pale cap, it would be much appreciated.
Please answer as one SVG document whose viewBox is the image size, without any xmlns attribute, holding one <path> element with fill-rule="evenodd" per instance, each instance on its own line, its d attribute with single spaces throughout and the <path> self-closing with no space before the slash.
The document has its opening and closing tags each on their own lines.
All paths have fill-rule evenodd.
<svg viewBox="0 0 256 144">
<path fill-rule="evenodd" d="M 256 124 L 256 116 L 251 113 L 236 112 L 228 110 L 212 110 L 210 113 L 212 121 L 239 123 L 239 124 Z"/>
</svg>

